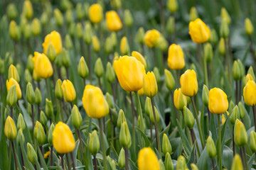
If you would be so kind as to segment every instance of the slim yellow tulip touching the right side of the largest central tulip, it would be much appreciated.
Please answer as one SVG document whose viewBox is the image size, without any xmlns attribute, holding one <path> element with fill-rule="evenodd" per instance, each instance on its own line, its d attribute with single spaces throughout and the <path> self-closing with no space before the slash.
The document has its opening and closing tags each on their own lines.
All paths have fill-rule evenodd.
<svg viewBox="0 0 256 170">
<path fill-rule="evenodd" d="M 152 98 L 157 93 L 157 83 L 154 72 L 147 72 L 143 77 L 143 89 L 146 96 Z"/>
</svg>

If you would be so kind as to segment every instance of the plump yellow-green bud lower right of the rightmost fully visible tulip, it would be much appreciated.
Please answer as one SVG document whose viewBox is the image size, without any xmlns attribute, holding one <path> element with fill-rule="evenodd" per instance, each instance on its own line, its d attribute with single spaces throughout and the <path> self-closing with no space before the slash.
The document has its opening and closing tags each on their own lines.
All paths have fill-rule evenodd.
<svg viewBox="0 0 256 170">
<path fill-rule="evenodd" d="M 245 130 L 245 125 L 240 120 L 235 120 L 235 127 L 234 127 L 234 138 L 235 138 L 235 145 L 238 147 L 242 147 L 247 145 L 247 132 Z"/>
</svg>

